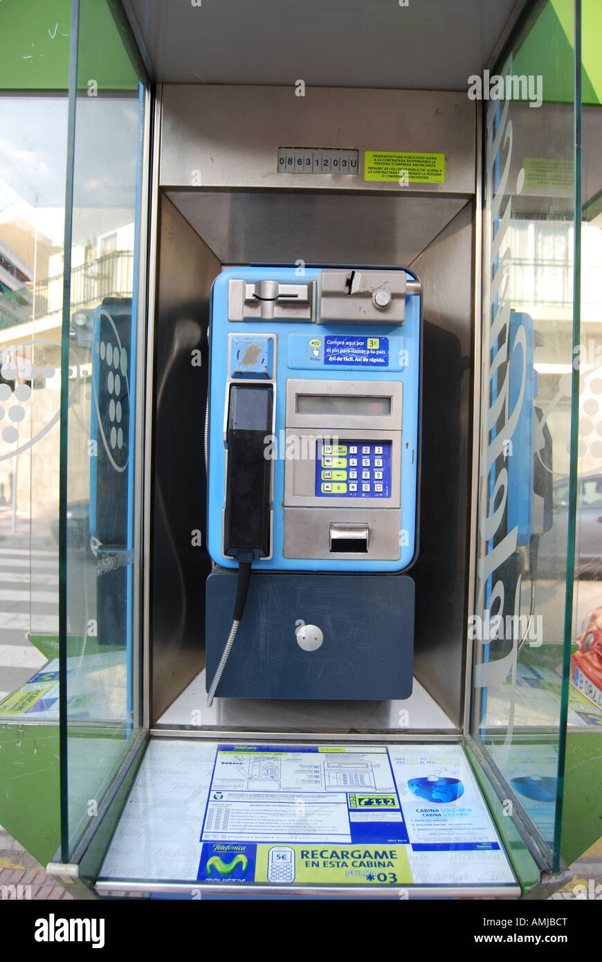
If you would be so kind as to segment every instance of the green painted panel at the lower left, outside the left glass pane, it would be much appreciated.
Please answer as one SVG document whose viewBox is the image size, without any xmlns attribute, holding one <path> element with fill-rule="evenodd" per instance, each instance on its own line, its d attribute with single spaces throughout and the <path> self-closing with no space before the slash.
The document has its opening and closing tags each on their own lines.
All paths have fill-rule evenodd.
<svg viewBox="0 0 602 962">
<path fill-rule="evenodd" d="M 41 865 L 59 848 L 59 726 L 0 724 L 0 824 Z"/>
</svg>

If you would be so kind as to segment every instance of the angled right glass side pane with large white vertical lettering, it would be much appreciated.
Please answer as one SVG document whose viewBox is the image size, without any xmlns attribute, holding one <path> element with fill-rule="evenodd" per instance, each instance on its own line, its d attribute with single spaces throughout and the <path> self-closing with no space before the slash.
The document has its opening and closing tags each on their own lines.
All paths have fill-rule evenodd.
<svg viewBox="0 0 602 962">
<path fill-rule="evenodd" d="M 500 76 L 513 99 L 484 104 L 479 555 L 469 622 L 473 734 L 554 864 L 574 537 L 573 38 L 572 0 L 549 0 L 491 71 L 489 89 Z"/>
</svg>

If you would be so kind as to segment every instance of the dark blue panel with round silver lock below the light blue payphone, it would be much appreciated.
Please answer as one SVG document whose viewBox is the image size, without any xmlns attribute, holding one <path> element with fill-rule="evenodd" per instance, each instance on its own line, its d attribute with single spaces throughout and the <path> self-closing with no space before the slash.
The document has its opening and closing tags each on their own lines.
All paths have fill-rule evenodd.
<svg viewBox="0 0 602 962">
<path fill-rule="evenodd" d="M 207 579 L 207 685 L 230 627 L 237 572 Z M 297 644 L 301 622 L 324 635 Z M 390 700 L 412 694 L 414 581 L 402 575 L 252 572 L 217 697 Z"/>
</svg>

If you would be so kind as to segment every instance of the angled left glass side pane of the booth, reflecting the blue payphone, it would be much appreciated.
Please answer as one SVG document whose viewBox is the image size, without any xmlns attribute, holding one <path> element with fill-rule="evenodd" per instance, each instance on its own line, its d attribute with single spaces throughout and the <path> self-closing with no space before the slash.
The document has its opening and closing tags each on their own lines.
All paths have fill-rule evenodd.
<svg viewBox="0 0 602 962">
<path fill-rule="evenodd" d="M 135 411 L 144 88 L 109 5 L 78 6 L 70 309 L 63 316 L 63 859 L 97 814 L 138 726 Z"/>
</svg>

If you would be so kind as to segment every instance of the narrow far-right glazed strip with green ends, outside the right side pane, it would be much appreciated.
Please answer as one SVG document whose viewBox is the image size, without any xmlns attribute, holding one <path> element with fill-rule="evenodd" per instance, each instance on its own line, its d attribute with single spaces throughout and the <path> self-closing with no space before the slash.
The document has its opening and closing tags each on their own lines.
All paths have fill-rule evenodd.
<svg viewBox="0 0 602 962">
<path fill-rule="evenodd" d="M 580 855 L 600 836 L 602 732 L 602 7 L 582 6 L 582 215 L 579 347 L 579 447 L 574 623 L 568 692 L 567 774 L 564 791 L 563 854 Z M 587 738 L 582 737 L 583 732 Z M 570 764 L 579 757 L 579 764 Z"/>
</svg>

